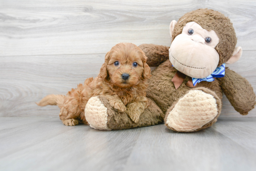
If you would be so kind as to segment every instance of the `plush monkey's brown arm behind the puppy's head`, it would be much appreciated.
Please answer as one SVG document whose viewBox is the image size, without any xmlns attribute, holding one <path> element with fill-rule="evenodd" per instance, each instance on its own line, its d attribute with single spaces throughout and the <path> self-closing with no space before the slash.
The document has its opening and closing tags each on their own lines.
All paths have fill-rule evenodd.
<svg viewBox="0 0 256 171">
<path fill-rule="evenodd" d="M 169 47 L 155 44 L 141 44 L 139 48 L 148 57 L 149 66 L 158 66 L 169 59 Z"/>
</svg>

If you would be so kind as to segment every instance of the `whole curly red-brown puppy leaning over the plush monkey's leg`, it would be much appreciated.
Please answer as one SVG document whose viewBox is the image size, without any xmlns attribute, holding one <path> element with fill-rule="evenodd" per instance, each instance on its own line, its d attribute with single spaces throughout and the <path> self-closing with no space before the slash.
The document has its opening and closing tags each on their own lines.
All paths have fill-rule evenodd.
<svg viewBox="0 0 256 171">
<path fill-rule="evenodd" d="M 146 80 L 151 75 L 146 60 L 144 52 L 135 44 L 116 44 L 107 52 L 98 77 L 86 79 L 84 85 L 78 84 L 66 96 L 48 95 L 37 105 L 59 106 L 62 122 L 66 126 L 75 126 L 79 122 L 88 124 L 85 106 L 89 98 L 105 95 L 111 106 L 126 111 L 131 120 L 137 123 L 148 106 Z"/>
</svg>

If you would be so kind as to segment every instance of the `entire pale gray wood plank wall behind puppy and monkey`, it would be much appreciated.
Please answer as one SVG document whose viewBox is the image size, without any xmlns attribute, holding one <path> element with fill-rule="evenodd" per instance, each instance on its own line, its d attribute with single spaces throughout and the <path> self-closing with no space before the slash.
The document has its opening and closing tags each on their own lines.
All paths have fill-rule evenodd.
<svg viewBox="0 0 256 171">
<path fill-rule="evenodd" d="M 255 0 L 0 0 L 0 116 L 58 115 L 35 102 L 97 76 L 119 42 L 169 46 L 170 22 L 199 8 L 231 19 L 243 55 L 228 67 L 256 92 Z M 241 117 L 226 97 L 221 116 Z"/>
</svg>

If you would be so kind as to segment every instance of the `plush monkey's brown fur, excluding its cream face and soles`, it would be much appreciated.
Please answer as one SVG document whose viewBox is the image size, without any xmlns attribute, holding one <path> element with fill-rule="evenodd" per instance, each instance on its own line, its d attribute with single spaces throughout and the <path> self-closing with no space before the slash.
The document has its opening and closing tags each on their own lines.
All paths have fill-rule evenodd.
<svg viewBox="0 0 256 171">
<path fill-rule="evenodd" d="M 219 53 L 219 64 L 227 62 L 232 56 L 236 45 L 235 32 L 230 20 L 223 14 L 208 10 L 200 9 L 189 12 L 182 16 L 174 28 L 172 38 L 181 34 L 182 28 L 188 22 L 196 22 L 204 29 L 214 30 L 219 37 L 219 43 L 215 47 Z M 169 47 L 154 44 L 142 44 L 139 46 L 148 57 L 149 66 L 157 66 L 151 72 L 152 77 L 148 80 L 149 87 L 147 89 L 147 97 L 150 105 L 142 113 L 138 123 L 131 122 L 130 118 L 122 115 L 120 112 L 115 112 L 109 106 L 108 101 L 104 96 L 99 96 L 101 102 L 108 108 L 107 127 L 110 129 L 128 129 L 135 127 L 143 127 L 154 125 L 163 122 L 165 113 L 168 113 L 174 108 L 180 98 L 187 94 L 190 90 L 201 90 L 212 95 L 217 104 L 218 114 L 210 122 L 206 123 L 198 131 L 211 126 L 217 121 L 217 117 L 221 112 L 222 93 L 224 93 L 232 106 L 241 115 L 247 115 L 248 111 L 255 106 L 255 94 L 251 84 L 239 74 L 226 68 L 225 77 L 216 78 L 212 82 L 202 81 L 197 84 L 196 88 L 185 86 L 185 83 L 190 77 L 186 77 L 181 86 L 176 90 L 171 79 L 176 74 L 177 70 L 172 67 L 169 59 Z M 168 127 L 168 125 L 166 124 Z M 168 127 L 176 131 L 173 128 Z M 184 131 L 186 132 L 186 131 Z M 190 131 L 189 131 L 190 132 Z"/>
</svg>

